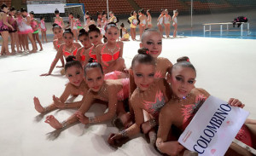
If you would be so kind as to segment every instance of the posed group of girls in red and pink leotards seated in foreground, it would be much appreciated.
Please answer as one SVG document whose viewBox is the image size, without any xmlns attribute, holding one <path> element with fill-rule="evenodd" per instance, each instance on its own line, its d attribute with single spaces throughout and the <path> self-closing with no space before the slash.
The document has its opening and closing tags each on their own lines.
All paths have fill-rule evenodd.
<svg viewBox="0 0 256 156">
<path fill-rule="evenodd" d="M 53 95 L 49 105 L 42 105 L 38 97 L 34 97 L 35 109 L 42 114 L 55 109 L 77 109 L 64 121 L 53 115 L 46 116 L 45 123 L 57 130 L 67 129 L 75 123 L 100 124 L 110 120 L 119 129 L 119 133 L 109 134 L 106 141 L 113 147 L 121 146 L 141 132 L 160 153 L 183 153 L 185 148 L 177 138 L 200 107 L 196 103 L 205 101 L 210 95 L 207 90 L 195 87 L 195 66 L 186 56 L 178 58 L 175 64 L 168 58 L 159 57 L 162 34 L 148 29 L 142 33 L 140 49 L 127 67 L 123 58 L 124 43 L 118 40 L 118 26 L 109 20 L 102 25 L 105 25 L 104 35 L 102 26 L 94 22 L 79 30 L 80 43 L 74 42 L 72 29 L 63 30 L 58 23 L 53 25 L 57 53 L 49 72 L 41 76 L 51 75 L 61 60 L 62 66 L 57 67 L 63 67 L 68 83 L 60 97 Z M 67 102 L 70 95 L 83 95 L 83 99 Z M 108 111 L 97 116 L 85 115 L 95 103 L 106 105 Z M 230 98 L 229 104 L 244 107 L 234 98 Z M 255 124 L 255 120 L 248 118 L 236 139 L 255 148 Z M 249 154 L 232 143 L 227 154 L 237 153 Z"/>
</svg>

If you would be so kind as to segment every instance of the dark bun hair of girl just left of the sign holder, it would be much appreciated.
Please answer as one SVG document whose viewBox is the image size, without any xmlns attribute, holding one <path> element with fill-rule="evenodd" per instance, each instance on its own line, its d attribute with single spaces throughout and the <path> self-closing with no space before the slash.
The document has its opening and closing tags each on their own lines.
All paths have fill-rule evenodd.
<svg viewBox="0 0 256 156">
<path fill-rule="evenodd" d="M 138 54 L 135 55 L 131 61 L 131 68 L 133 68 L 135 61 L 143 64 L 149 64 L 155 66 L 154 57 L 148 54 L 148 49 L 141 48 L 137 50 Z"/>
</svg>

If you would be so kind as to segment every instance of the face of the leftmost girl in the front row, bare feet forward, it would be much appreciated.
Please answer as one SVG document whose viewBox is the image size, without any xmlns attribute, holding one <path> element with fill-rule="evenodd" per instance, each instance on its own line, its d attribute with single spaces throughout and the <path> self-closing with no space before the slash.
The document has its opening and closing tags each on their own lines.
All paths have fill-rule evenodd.
<svg viewBox="0 0 256 156">
<path fill-rule="evenodd" d="M 84 78 L 83 69 L 79 66 L 70 66 L 66 70 L 66 77 L 70 84 L 79 87 Z"/>
</svg>

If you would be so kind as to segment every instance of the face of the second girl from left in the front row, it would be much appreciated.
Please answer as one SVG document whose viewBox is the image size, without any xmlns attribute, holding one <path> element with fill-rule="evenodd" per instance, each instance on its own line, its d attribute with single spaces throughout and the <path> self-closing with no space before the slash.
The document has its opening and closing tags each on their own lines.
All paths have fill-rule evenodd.
<svg viewBox="0 0 256 156">
<path fill-rule="evenodd" d="M 102 89 L 104 83 L 104 75 L 99 67 L 86 68 L 85 82 L 94 92 Z"/>
</svg>

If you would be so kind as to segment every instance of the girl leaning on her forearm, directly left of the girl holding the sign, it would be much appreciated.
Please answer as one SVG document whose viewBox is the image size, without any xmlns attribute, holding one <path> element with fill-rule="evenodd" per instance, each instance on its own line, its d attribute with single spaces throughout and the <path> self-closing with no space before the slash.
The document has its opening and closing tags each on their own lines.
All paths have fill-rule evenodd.
<svg viewBox="0 0 256 156">
<path fill-rule="evenodd" d="M 134 111 L 135 123 L 118 134 L 111 134 L 108 143 L 115 145 L 120 139 L 135 136 L 144 122 L 143 110 L 154 119 L 150 125 L 156 124 L 163 107 L 170 99 L 170 88 L 165 78 L 154 78 L 155 60 L 148 54 L 148 49 L 139 49 L 131 62 L 131 74 L 134 76 L 137 89 L 131 95 L 130 104 Z"/>
</svg>

